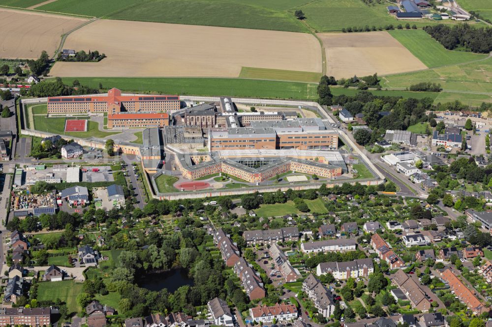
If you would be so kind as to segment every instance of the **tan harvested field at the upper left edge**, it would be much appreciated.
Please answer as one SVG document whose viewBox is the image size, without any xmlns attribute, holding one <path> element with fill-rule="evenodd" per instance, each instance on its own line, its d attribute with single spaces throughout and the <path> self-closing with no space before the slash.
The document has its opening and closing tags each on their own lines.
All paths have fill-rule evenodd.
<svg viewBox="0 0 492 327">
<path fill-rule="evenodd" d="M 87 19 L 0 9 L 0 57 L 35 59 L 41 51 L 53 55 L 62 34 Z"/>
</svg>

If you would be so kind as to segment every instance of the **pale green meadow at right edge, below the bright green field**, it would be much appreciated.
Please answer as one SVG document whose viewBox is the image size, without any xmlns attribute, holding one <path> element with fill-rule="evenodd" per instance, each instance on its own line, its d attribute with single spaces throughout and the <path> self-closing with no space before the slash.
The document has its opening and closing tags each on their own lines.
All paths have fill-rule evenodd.
<svg viewBox="0 0 492 327">
<path fill-rule="evenodd" d="M 471 106 L 492 101 L 492 58 L 481 61 L 427 69 L 424 71 L 383 76 L 383 87 L 408 87 L 418 82 L 440 83 L 440 92 L 435 102 L 460 100 Z M 453 92 L 446 92 L 453 91 Z M 463 91 L 464 93 L 456 93 Z M 466 93 L 477 92 L 477 94 Z"/>
</svg>

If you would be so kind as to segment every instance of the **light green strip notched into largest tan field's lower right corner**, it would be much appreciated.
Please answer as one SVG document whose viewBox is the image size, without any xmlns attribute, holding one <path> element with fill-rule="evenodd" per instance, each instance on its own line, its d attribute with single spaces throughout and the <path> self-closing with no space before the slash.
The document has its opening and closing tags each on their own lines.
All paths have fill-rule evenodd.
<svg viewBox="0 0 492 327">
<path fill-rule="evenodd" d="M 321 73 L 298 72 L 293 70 L 243 67 L 239 77 L 258 80 L 279 80 L 295 82 L 319 82 Z"/>
</svg>

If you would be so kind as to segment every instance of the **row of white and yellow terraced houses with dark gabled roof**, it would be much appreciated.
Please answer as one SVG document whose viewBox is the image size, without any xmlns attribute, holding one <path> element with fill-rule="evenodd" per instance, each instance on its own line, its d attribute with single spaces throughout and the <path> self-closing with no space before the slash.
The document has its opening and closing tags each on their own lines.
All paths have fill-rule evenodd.
<svg viewBox="0 0 492 327">
<path fill-rule="evenodd" d="M 345 262 L 322 262 L 316 267 L 318 276 L 331 273 L 335 279 L 368 277 L 374 272 L 372 259 L 356 259 Z"/>
</svg>

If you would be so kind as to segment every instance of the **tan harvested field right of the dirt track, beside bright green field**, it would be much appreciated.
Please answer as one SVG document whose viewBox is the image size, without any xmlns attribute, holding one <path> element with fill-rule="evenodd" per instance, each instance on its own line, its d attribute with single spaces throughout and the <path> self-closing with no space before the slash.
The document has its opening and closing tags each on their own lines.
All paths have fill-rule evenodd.
<svg viewBox="0 0 492 327">
<path fill-rule="evenodd" d="M 385 31 L 321 33 L 328 76 L 348 78 L 427 69 L 417 57 Z"/>
</svg>

